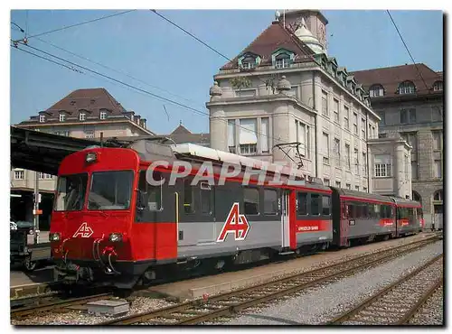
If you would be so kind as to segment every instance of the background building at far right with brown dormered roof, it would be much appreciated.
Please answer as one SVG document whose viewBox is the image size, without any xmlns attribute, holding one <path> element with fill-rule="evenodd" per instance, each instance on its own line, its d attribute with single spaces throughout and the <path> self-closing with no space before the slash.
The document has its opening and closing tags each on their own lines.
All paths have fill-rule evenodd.
<svg viewBox="0 0 452 334">
<path fill-rule="evenodd" d="M 379 136 L 402 138 L 411 146 L 412 199 L 422 202 L 426 227 L 442 219 L 444 187 L 443 76 L 424 64 L 363 70 L 353 75 L 367 88 L 384 88 L 372 98 L 372 108 L 381 116 Z M 419 78 L 419 71 L 422 79 Z M 386 74 L 388 72 L 388 74 Z M 390 74 L 391 73 L 391 74 Z M 413 84 L 411 94 L 398 90 L 402 82 Z"/>
</svg>

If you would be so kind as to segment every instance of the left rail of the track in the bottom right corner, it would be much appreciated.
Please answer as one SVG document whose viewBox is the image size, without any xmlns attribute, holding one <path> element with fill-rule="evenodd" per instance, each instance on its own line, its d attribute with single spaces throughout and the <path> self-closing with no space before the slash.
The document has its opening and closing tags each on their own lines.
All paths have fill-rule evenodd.
<svg viewBox="0 0 452 334">
<path fill-rule="evenodd" d="M 382 296 L 386 295 L 387 293 L 390 293 L 395 288 L 399 287 L 402 283 L 407 282 L 414 276 L 418 275 L 419 273 L 423 272 L 425 269 L 427 269 L 430 265 L 436 263 L 439 259 L 443 257 L 443 254 L 437 255 L 431 260 L 429 260 L 426 264 L 422 264 L 419 268 L 412 271 L 410 274 L 404 275 L 399 280 L 397 280 L 394 283 L 391 283 L 390 285 L 386 286 L 385 288 L 381 289 L 379 292 L 376 292 L 372 294 L 369 298 L 366 298 L 363 302 L 360 302 L 358 305 L 354 306 L 352 309 L 348 311 L 344 311 L 344 313 L 340 314 L 339 316 L 335 317 L 333 320 L 327 321 L 325 325 L 339 325 L 344 323 L 347 320 L 351 320 L 354 316 L 359 314 L 361 311 L 372 305 L 372 303 L 377 302 Z"/>
</svg>

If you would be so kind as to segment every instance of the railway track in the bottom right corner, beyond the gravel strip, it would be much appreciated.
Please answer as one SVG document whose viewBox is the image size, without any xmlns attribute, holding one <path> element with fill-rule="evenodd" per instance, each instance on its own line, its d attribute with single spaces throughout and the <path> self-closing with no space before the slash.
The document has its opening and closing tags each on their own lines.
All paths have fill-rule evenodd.
<svg viewBox="0 0 452 334">
<path fill-rule="evenodd" d="M 327 325 L 408 324 L 422 305 L 442 286 L 442 259 L 443 255 L 434 257 L 427 264 L 329 321 Z"/>
</svg>

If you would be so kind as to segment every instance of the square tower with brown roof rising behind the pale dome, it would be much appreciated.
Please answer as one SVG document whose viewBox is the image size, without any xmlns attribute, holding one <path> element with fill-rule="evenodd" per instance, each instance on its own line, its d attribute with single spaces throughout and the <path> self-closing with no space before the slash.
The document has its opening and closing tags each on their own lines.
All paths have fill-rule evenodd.
<svg viewBox="0 0 452 334">
<path fill-rule="evenodd" d="M 282 22 L 284 20 L 284 11 L 280 10 L 279 13 L 281 13 L 280 20 Z M 305 19 L 306 28 L 314 34 L 315 38 L 326 50 L 326 24 L 328 24 L 328 20 L 320 11 L 308 9 L 286 10 L 285 16 L 286 28 L 290 32 L 296 32 L 301 26 L 302 19 Z"/>
</svg>

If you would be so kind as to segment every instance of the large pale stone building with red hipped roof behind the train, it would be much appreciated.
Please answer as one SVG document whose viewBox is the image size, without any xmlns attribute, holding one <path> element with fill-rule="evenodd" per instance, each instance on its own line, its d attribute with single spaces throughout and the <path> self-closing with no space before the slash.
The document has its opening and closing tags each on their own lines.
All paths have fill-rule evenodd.
<svg viewBox="0 0 452 334">
<path fill-rule="evenodd" d="M 326 185 L 372 191 L 366 142 L 378 136 L 380 118 L 353 76 L 318 51 L 323 43 L 306 28 L 309 15 L 317 20 L 315 11 L 290 13 L 295 32 L 279 16 L 214 76 L 211 146 L 292 165 Z M 278 62 L 283 49 L 287 62 Z M 240 68 L 250 58 L 257 65 Z"/>
</svg>

